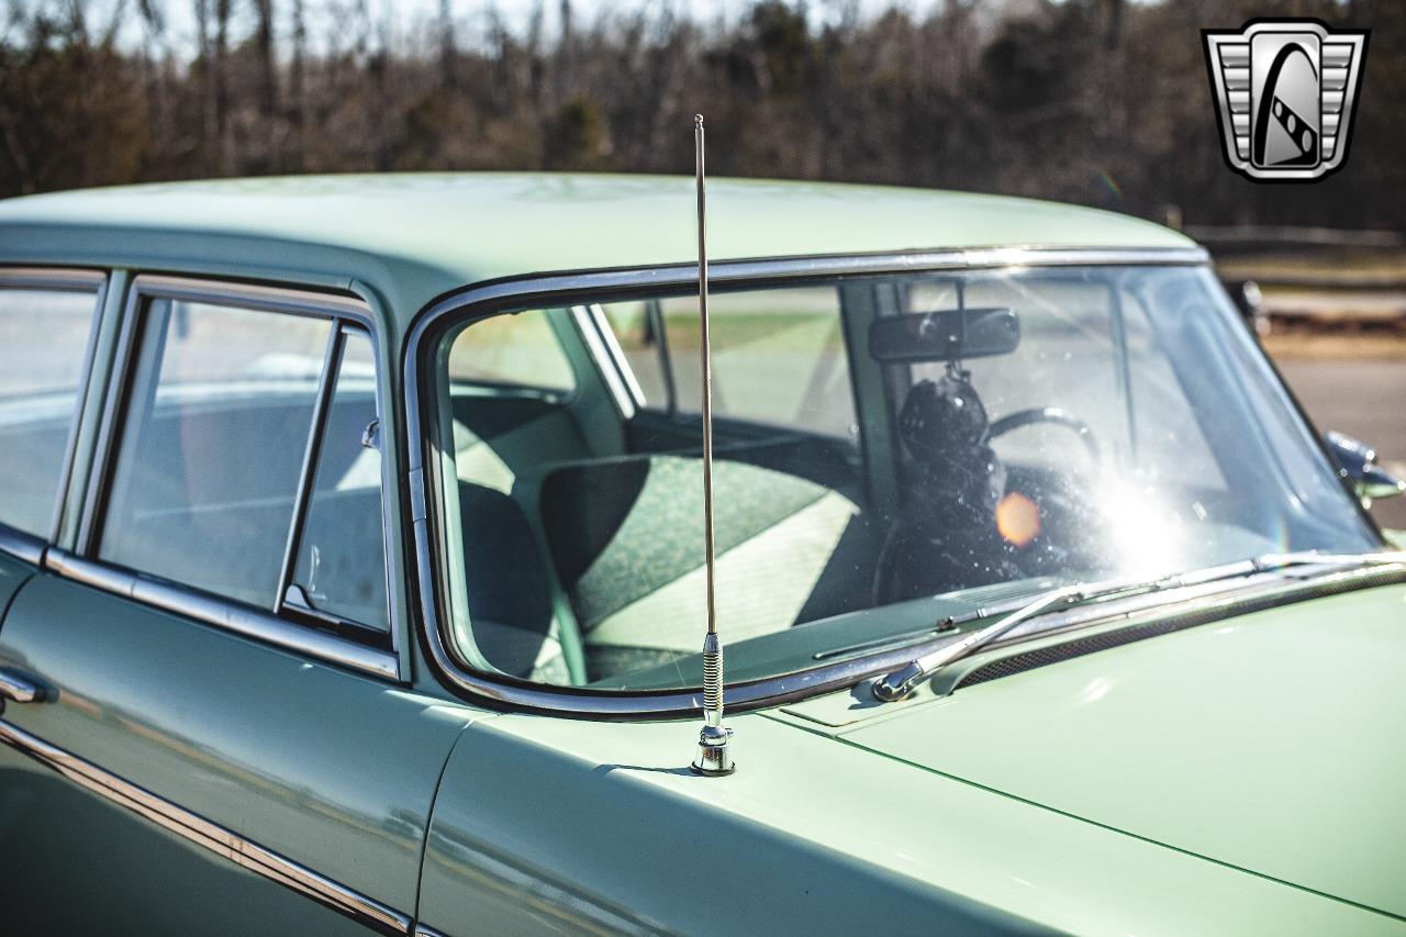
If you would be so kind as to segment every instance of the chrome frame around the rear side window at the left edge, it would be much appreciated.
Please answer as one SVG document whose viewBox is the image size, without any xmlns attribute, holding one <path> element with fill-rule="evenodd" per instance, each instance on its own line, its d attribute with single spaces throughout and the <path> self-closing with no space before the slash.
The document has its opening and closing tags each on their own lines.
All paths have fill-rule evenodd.
<svg viewBox="0 0 1406 937">
<path fill-rule="evenodd" d="M 79 378 L 75 388 L 73 419 L 69 423 L 67 439 L 63 443 L 63 460 L 59 470 L 59 485 L 55 491 L 53 515 L 49 521 L 46 536 L 37 536 L 27 530 L 13 528 L 0 521 L 0 552 L 8 553 L 31 566 L 42 566 L 45 552 L 59 536 L 59 526 L 63 521 L 63 505 L 67 499 L 69 484 L 73 476 L 73 463 L 77 456 L 79 423 L 83 419 L 83 409 L 87 405 L 87 388 L 93 376 L 94 355 L 97 352 L 97 336 L 103 321 L 103 307 L 107 302 L 110 279 L 105 270 L 90 270 L 79 267 L 13 267 L 0 266 L 0 291 L 28 290 L 45 293 L 80 293 L 93 297 L 93 317 L 89 324 L 89 336 L 84 343 L 83 362 L 79 366 Z"/>
</svg>

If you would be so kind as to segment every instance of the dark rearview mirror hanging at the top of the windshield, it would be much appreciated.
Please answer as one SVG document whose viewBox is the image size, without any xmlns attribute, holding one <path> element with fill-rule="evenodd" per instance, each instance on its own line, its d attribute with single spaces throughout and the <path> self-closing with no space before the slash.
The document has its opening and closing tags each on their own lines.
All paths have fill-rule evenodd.
<svg viewBox="0 0 1406 937">
<path fill-rule="evenodd" d="M 1015 310 L 938 310 L 876 319 L 869 355 L 876 362 L 953 362 L 1010 355 L 1021 343 Z"/>
</svg>

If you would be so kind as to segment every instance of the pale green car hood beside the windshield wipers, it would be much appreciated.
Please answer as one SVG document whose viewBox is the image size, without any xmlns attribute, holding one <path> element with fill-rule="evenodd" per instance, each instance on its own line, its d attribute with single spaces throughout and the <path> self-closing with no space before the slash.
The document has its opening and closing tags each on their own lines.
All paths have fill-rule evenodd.
<svg viewBox="0 0 1406 937">
<path fill-rule="evenodd" d="M 1406 916 L 1406 587 L 1299 602 L 873 712 L 841 737 Z"/>
</svg>

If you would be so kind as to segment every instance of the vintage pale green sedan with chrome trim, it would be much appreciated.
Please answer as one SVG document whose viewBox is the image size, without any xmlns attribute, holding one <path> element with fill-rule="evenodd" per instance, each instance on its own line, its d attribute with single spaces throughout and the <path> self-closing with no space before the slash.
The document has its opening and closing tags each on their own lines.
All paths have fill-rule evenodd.
<svg viewBox="0 0 1406 937">
<path fill-rule="evenodd" d="M 0 204 L 8 933 L 1406 931 L 1402 490 L 1182 235 L 368 174 Z"/>
</svg>

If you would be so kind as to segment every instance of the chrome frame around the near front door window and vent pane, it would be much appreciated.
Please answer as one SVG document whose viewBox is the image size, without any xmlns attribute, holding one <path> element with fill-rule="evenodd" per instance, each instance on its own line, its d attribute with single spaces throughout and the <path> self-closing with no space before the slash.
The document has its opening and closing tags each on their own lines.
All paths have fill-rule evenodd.
<svg viewBox="0 0 1406 937">
<path fill-rule="evenodd" d="M 150 305 L 156 301 L 200 302 L 231 310 L 271 312 L 330 322 L 328 348 L 318 377 L 318 391 L 314 415 L 294 495 L 294 514 L 284 536 L 284 556 L 280 559 L 278 591 L 270 608 L 254 608 L 236 599 L 225 598 L 197 587 L 160 578 L 155 574 L 129 570 L 98 559 L 103 523 L 107 518 L 107 498 L 111 492 L 117 470 L 120 442 L 127 426 L 129 402 L 138 371 L 142 339 L 149 321 Z M 374 677 L 404 682 L 406 674 L 399 654 L 405 633 L 396 602 L 391 599 L 394 589 L 387 582 L 389 630 L 380 632 L 370 626 L 337 626 L 340 619 L 321 616 L 290 605 L 287 580 L 294 568 L 290 557 L 295 557 L 297 546 L 307 522 L 311 487 L 318 468 L 322 436 L 326 428 L 326 411 L 336 388 L 337 369 L 349 331 L 361 332 L 371 343 L 375 367 L 377 414 L 384 418 L 387 401 L 387 380 L 381 362 L 382 336 L 366 301 L 350 294 L 316 293 L 312 290 L 243 284 L 225 280 L 204 280 L 194 277 L 173 277 L 165 274 L 139 274 L 132 279 L 122 305 L 122 319 L 118 325 L 118 339 L 112 369 L 108 376 L 107 395 L 98 423 L 93 464 L 89 473 L 87 491 L 79 523 L 75 549 L 51 547 L 46 566 L 67 578 L 117 592 L 138 602 L 176 612 L 207 625 L 256 637 L 270 644 L 295 650 L 319 660 L 357 670 Z M 395 512 L 392 501 L 398 488 L 394 484 L 394 460 L 389 459 L 388 435 L 382 433 L 381 459 L 381 514 L 382 514 L 382 566 L 389 580 L 396 543 Z"/>
</svg>

